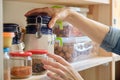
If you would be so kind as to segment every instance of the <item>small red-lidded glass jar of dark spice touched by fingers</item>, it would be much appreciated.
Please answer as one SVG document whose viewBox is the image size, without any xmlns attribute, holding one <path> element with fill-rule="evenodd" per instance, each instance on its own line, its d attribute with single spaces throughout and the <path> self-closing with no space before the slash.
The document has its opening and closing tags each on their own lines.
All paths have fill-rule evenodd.
<svg viewBox="0 0 120 80">
<path fill-rule="evenodd" d="M 32 53 L 32 72 L 34 75 L 44 74 L 46 70 L 43 68 L 41 59 L 47 59 L 46 50 L 29 50 Z"/>
</svg>

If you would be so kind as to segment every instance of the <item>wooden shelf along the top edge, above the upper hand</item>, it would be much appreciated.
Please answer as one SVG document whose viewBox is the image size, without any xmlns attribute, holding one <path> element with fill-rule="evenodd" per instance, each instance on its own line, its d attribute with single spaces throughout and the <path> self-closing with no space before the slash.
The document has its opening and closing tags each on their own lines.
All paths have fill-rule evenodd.
<svg viewBox="0 0 120 80">
<path fill-rule="evenodd" d="M 16 1 L 16 0 L 6 0 Z M 109 4 L 109 0 L 19 0 L 22 2 L 32 2 L 41 4 L 60 4 L 60 5 L 85 5 L 85 4 Z"/>
</svg>

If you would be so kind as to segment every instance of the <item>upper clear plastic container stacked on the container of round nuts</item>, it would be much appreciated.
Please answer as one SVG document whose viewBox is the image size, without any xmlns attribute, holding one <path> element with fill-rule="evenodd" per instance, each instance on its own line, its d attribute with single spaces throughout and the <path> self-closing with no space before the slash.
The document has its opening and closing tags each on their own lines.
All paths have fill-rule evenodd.
<svg viewBox="0 0 120 80">
<path fill-rule="evenodd" d="M 63 28 L 60 27 L 59 24 L 55 24 L 53 28 L 53 33 L 56 34 L 57 37 L 80 37 L 83 34 L 78 30 L 75 26 L 70 24 L 69 22 L 62 22 Z"/>
</svg>

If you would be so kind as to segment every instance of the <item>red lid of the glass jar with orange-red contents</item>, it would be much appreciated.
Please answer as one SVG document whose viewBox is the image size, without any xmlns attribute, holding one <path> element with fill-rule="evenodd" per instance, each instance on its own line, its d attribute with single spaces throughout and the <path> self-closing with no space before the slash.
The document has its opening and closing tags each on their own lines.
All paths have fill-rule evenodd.
<svg viewBox="0 0 120 80">
<path fill-rule="evenodd" d="M 10 52 L 10 56 L 12 57 L 28 57 L 28 56 L 32 56 L 31 52 Z"/>
</svg>

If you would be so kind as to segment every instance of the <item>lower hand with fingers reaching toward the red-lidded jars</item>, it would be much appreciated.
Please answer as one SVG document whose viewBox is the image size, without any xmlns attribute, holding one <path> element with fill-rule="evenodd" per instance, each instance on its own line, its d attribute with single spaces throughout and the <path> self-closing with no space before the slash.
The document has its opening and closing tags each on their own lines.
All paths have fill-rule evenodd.
<svg viewBox="0 0 120 80">
<path fill-rule="evenodd" d="M 62 57 L 55 54 L 47 54 L 55 61 L 42 60 L 44 68 L 50 72 L 47 75 L 53 80 L 83 80 L 77 71 Z"/>
</svg>

